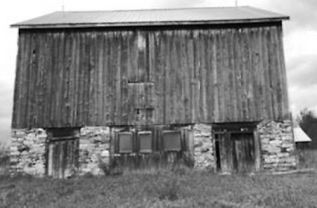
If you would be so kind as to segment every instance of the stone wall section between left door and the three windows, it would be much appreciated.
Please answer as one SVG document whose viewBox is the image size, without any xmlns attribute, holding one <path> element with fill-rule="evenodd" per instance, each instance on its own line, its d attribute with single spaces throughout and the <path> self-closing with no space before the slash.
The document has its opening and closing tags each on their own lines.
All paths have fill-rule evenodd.
<svg viewBox="0 0 317 208">
<path fill-rule="evenodd" d="M 80 130 L 79 174 L 104 174 L 100 165 L 109 165 L 110 128 L 83 127 Z"/>
</svg>

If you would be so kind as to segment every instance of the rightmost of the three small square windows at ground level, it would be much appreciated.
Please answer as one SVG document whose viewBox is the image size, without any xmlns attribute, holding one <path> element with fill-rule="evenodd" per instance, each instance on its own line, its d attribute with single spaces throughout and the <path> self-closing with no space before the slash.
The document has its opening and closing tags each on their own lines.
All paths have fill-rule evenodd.
<svg viewBox="0 0 317 208">
<path fill-rule="evenodd" d="M 181 151 L 181 134 L 179 131 L 163 131 L 165 151 Z"/>
</svg>

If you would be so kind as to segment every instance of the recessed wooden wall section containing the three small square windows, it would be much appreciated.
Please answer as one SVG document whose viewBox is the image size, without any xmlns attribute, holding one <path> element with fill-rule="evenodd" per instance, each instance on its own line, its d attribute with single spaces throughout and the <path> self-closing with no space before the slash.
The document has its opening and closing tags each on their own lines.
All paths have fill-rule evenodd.
<svg viewBox="0 0 317 208">
<path fill-rule="evenodd" d="M 114 129 L 111 139 L 113 156 L 112 164 L 123 169 L 162 168 L 183 163 L 190 167 L 193 162 L 191 129 L 187 126 L 136 129 L 126 127 Z"/>
</svg>

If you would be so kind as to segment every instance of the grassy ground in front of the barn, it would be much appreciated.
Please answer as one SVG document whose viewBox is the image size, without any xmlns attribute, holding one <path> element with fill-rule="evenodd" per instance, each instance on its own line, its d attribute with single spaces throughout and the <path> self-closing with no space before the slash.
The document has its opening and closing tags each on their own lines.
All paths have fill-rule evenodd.
<svg viewBox="0 0 317 208">
<path fill-rule="evenodd" d="M 317 174 L 220 176 L 180 169 L 68 180 L 0 178 L 0 207 L 317 207 Z"/>
</svg>

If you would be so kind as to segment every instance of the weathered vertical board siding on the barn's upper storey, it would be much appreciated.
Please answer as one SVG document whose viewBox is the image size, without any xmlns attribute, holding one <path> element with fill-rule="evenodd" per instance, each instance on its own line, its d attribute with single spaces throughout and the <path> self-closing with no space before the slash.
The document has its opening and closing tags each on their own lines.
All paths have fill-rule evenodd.
<svg viewBox="0 0 317 208">
<path fill-rule="evenodd" d="M 21 30 L 18 45 L 14 128 L 288 116 L 281 25 Z"/>
</svg>

